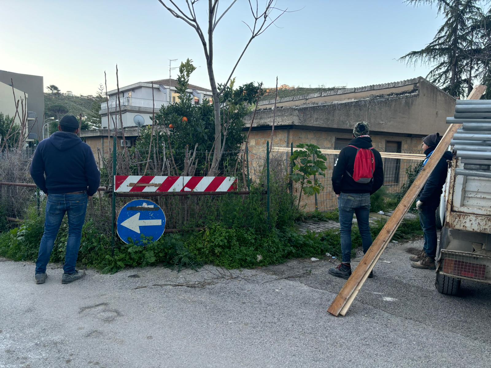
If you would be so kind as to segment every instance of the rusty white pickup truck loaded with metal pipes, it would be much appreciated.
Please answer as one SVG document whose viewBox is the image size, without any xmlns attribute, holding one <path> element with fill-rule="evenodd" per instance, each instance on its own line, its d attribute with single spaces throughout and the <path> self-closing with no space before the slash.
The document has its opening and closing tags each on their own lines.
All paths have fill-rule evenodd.
<svg viewBox="0 0 491 368">
<path fill-rule="evenodd" d="M 462 280 L 491 284 L 491 100 L 457 101 L 463 124 L 451 141 L 453 159 L 437 210 L 442 220 L 436 289 L 457 295 Z"/>
</svg>

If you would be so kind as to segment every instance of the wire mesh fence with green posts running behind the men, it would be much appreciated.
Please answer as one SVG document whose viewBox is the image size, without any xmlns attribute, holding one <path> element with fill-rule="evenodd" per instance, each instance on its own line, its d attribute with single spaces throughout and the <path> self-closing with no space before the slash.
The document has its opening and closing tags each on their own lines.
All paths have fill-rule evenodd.
<svg viewBox="0 0 491 368">
<path fill-rule="evenodd" d="M 324 189 L 320 194 L 306 197 L 302 195 L 300 209 L 307 212 L 320 210 L 330 211 L 337 208 L 336 195 L 332 191 L 331 175 L 334 162 L 339 151 L 324 150 L 327 156 L 327 170 L 325 175 L 318 178 Z M 292 148 L 274 148 L 269 154 L 267 147 L 254 147 L 251 150 L 240 152 L 225 152 L 220 168 L 220 175 L 236 176 L 238 178 L 238 190 L 241 195 L 172 195 L 166 194 L 159 197 L 141 196 L 139 199 L 147 199 L 157 203 L 166 214 L 166 231 L 174 232 L 185 229 L 204 228 L 213 222 L 227 223 L 234 204 L 244 203 L 245 196 L 251 185 L 259 190 L 260 194 L 256 200 L 264 209 L 264 219 L 268 220 L 270 212 L 270 188 L 269 183 L 281 190 L 288 191 L 299 196 L 300 186 L 289 183 L 288 174 L 291 169 L 290 155 Z M 35 188 L 29 175 L 29 166 L 32 152 L 15 152 L 0 154 L 0 209 L 3 211 L 1 216 L 8 218 L 9 221 L 19 222 L 26 218 L 29 213 L 42 213 L 45 204 L 45 196 Z M 133 155 L 137 161 L 127 161 L 122 158 L 123 153 L 118 152 L 116 157 L 116 172 L 118 175 L 175 175 L 169 170 L 169 163 L 165 162 L 164 150 L 156 150 L 151 153 L 152 164 L 148 165 L 146 158 L 148 153 L 139 156 Z M 209 152 L 197 152 L 196 155 L 209 157 Z M 388 154 L 383 157 L 385 183 L 383 196 L 397 201 L 398 194 L 405 190 L 405 185 L 411 182 L 419 171 L 422 162 L 422 155 L 414 157 L 407 154 Z M 158 157 L 161 159 L 159 160 Z M 175 152 L 174 159 L 178 160 L 175 164 L 184 167 L 186 160 L 185 152 Z M 188 156 L 189 157 L 189 156 Z M 99 162 L 101 160 L 99 159 Z M 112 231 L 113 209 L 115 214 L 130 201 L 128 196 L 115 196 L 114 207 L 112 206 L 112 166 L 109 161 L 102 161 L 101 165 L 101 185 L 97 194 L 89 201 L 87 208 L 87 221 L 92 221 L 92 226 L 98 229 L 101 234 L 110 235 Z M 128 171 L 129 170 L 129 171 Z M 191 176 L 201 175 L 201 169 L 196 168 Z M 5 183 L 16 183 L 17 185 L 6 185 Z M 29 185 L 25 185 L 29 184 Z M 105 190 L 108 188 L 108 190 Z M 257 194 L 257 193 L 256 193 Z M 233 198 L 231 198 L 233 197 Z M 275 198 L 273 198 L 274 201 Z M 246 218 L 247 213 L 243 216 Z M 244 221 L 247 224 L 247 221 Z M 253 224 L 251 224 L 252 226 Z"/>
</svg>

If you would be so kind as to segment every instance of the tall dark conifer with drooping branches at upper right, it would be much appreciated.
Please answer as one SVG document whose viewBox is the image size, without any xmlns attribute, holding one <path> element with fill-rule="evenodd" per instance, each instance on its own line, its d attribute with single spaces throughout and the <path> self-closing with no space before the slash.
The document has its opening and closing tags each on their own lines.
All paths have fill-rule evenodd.
<svg viewBox="0 0 491 368">
<path fill-rule="evenodd" d="M 480 1 L 407 0 L 406 3 L 436 5 L 438 15 L 445 17 L 445 23 L 424 49 L 411 51 L 400 60 L 434 66 L 427 78 L 454 97 L 464 96 L 465 88 L 472 88 L 472 79 L 479 69 L 472 57 L 475 43 L 472 25 L 482 16 Z"/>
</svg>

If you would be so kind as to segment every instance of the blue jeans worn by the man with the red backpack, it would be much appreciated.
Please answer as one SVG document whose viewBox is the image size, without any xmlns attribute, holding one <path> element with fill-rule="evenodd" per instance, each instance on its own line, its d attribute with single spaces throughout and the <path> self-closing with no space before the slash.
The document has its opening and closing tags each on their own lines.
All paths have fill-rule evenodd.
<svg viewBox="0 0 491 368">
<path fill-rule="evenodd" d="M 353 226 L 353 213 L 356 215 L 358 230 L 361 236 L 363 254 L 372 245 L 370 234 L 370 193 L 346 194 L 341 193 L 338 198 L 339 225 L 341 232 L 342 262 L 351 262 L 351 227 Z"/>
</svg>

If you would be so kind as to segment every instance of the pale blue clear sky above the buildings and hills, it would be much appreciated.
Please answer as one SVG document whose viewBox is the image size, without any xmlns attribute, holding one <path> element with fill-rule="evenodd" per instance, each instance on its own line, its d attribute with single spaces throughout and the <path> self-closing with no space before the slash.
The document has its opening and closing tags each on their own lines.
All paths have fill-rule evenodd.
<svg viewBox="0 0 491 368">
<path fill-rule="evenodd" d="M 222 9 L 230 3 L 221 1 Z M 424 77 L 427 66 L 397 58 L 424 47 L 442 23 L 436 9 L 401 0 L 278 0 L 277 6 L 303 9 L 253 40 L 234 74 L 238 83 L 274 86 L 278 76 L 280 84 L 355 87 Z M 2 70 L 44 76 L 45 86 L 63 92 L 95 94 L 105 70 L 108 89 L 116 87 L 116 63 L 124 86 L 168 78 L 168 59 L 189 57 L 201 66 L 191 83 L 209 86 L 195 31 L 157 0 L 0 0 L 0 8 Z M 249 30 L 241 21 L 251 20 L 248 9 L 239 0 L 216 29 L 218 81 L 228 77 L 246 43 Z M 200 12 L 206 17 L 203 7 Z"/>
</svg>

